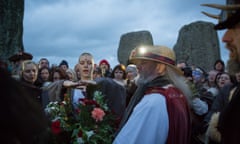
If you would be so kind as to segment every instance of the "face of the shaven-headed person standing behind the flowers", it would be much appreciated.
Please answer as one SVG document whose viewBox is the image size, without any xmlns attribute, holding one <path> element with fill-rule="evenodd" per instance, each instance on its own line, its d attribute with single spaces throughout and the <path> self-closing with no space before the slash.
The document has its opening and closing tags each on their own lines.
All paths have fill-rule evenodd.
<svg viewBox="0 0 240 144">
<path fill-rule="evenodd" d="M 94 63 L 92 56 L 83 55 L 79 59 L 81 80 L 92 79 Z"/>
</svg>

